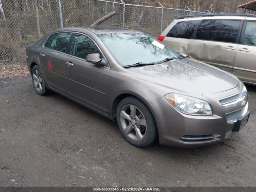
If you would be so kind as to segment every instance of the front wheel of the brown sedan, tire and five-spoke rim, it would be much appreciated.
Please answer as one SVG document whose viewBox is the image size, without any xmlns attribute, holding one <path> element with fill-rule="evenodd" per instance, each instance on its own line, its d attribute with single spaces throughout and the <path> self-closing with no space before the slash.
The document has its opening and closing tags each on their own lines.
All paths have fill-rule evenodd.
<svg viewBox="0 0 256 192">
<path fill-rule="evenodd" d="M 154 116 L 138 98 L 124 98 L 118 104 L 116 120 L 122 135 L 131 144 L 143 148 L 156 142 L 158 132 Z"/>
</svg>

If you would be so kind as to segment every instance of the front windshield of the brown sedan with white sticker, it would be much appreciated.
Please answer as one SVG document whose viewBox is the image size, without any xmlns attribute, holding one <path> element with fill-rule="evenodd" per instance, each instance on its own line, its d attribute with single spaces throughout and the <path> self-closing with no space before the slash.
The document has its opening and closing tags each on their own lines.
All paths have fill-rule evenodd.
<svg viewBox="0 0 256 192">
<path fill-rule="evenodd" d="M 180 55 L 155 38 L 143 33 L 98 34 L 121 66 L 160 62 Z"/>
</svg>

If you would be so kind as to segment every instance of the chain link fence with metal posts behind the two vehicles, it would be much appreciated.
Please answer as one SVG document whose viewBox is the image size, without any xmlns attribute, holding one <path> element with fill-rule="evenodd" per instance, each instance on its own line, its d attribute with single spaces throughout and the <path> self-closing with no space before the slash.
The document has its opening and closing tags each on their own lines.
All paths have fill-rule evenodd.
<svg viewBox="0 0 256 192">
<path fill-rule="evenodd" d="M 0 0 L 0 64 L 24 64 L 26 46 L 44 34 L 62 26 L 90 26 L 113 12 L 100 26 L 135 29 L 155 37 L 178 16 L 206 13 L 148 4 L 138 0 Z"/>
</svg>

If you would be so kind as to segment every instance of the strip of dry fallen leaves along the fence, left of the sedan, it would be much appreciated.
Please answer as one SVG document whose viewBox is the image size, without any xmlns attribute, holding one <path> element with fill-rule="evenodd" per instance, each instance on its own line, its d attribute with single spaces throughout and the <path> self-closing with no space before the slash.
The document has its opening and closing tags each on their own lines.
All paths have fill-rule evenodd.
<svg viewBox="0 0 256 192">
<path fill-rule="evenodd" d="M 29 76 L 30 72 L 25 64 L 1 64 L 0 63 L 0 79 L 6 77 L 25 77 Z"/>
</svg>

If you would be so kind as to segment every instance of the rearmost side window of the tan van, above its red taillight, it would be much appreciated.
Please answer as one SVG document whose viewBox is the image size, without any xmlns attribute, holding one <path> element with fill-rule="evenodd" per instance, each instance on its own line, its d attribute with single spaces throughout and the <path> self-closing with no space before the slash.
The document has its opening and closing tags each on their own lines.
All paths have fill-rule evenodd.
<svg viewBox="0 0 256 192">
<path fill-rule="evenodd" d="M 189 39 L 198 23 L 199 20 L 178 22 L 172 27 L 166 36 Z"/>
</svg>

